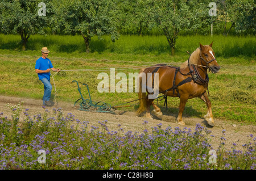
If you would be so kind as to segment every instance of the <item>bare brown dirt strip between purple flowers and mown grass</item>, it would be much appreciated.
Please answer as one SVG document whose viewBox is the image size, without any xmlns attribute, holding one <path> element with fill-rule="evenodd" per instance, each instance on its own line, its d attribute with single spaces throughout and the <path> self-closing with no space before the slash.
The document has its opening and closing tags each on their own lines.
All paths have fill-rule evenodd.
<svg viewBox="0 0 256 181">
<path fill-rule="evenodd" d="M 3 112 L 3 116 L 10 117 L 11 110 L 6 106 L 7 103 L 10 105 L 17 104 L 23 101 L 23 109 L 29 109 L 30 115 L 37 115 L 38 113 L 43 113 L 44 110 L 42 108 L 42 100 L 37 99 L 26 99 L 26 98 L 16 98 L 11 96 L 1 96 L 0 95 L 0 113 Z M 163 120 L 155 120 L 155 119 L 146 119 L 144 117 L 135 116 L 135 112 L 126 112 L 126 111 L 115 111 L 116 115 L 110 113 L 97 113 L 97 112 L 86 112 L 79 111 L 77 108 L 70 103 L 58 102 L 55 108 L 62 108 L 64 115 L 68 113 L 72 113 L 75 115 L 75 119 L 79 119 L 81 121 L 89 121 L 90 125 L 100 126 L 98 121 L 108 120 L 108 128 L 110 131 L 117 131 L 118 124 L 121 124 L 121 128 L 124 129 L 125 133 L 127 131 L 132 132 L 140 132 L 142 133 L 144 130 L 143 122 L 144 120 L 148 121 L 147 130 L 150 131 L 151 127 L 156 127 L 157 124 L 162 123 L 162 128 L 166 128 L 171 126 L 172 128 L 180 127 L 183 129 L 184 127 L 191 128 L 192 131 L 195 129 L 196 124 L 201 124 L 204 127 L 207 127 L 206 122 L 202 118 L 192 118 L 192 117 L 183 117 L 183 121 L 185 122 L 185 126 L 177 125 L 175 123 L 175 117 L 170 115 L 164 115 Z M 53 107 L 47 107 L 47 109 L 52 112 Z M 246 144 L 247 136 L 249 134 L 253 134 L 255 137 L 256 126 L 253 125 L 241 125 L 241 123 L 235 123 L 234 121 L 225 121 L 225 120 L 214 120 L 214 127 L 208 128 L 212 131 L 211 144 L 213 145 L 213 149 L 218 149 L 220 145 L 220 138 L 222 135 L 222 130 L 225 129 L 225 148 L 231 150 L 233 143 L 236 142 L 237 149 L 242 150 L 242 145 Z"/>
</svg>

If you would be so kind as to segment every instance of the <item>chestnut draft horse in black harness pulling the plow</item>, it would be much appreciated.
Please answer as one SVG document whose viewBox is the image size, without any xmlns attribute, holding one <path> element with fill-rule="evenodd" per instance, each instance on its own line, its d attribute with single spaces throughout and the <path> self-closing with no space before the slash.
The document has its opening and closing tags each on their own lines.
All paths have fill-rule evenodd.
<svg viewBox="0 0 256 181">
<path fill-rule="evenodd" d="M 139 108 L 137 110 L 137 116 L 146 111 L 146 117 L 151 118 L 150 107 L 153 106 L 152 114 L 162 119 L 163 113 L 156 104 L 154 104 L 154 99 L 149 95 L 154 94 L 154 85 L 151 89 L 154 91 L 142 91 L 142 74 L 146 75 L 146 81 L 152 78 L 150 81 L 154 83 L 155 74 L 158 73 L 158 93 L 163 94 L 167 99 L 167 96 L 179 97 L 179 114 L 176 117 L 176 123 L 180 125 L 185 125 L 182 120 L 182 114 L 185 108 L 185 104 L 188 99 L 200 98 L 207 104 L 208 112 L 204 116 L 208 125 L 214 127 L 212 104 L 207 95 L 209 77 L 207 71 L 211 71 L 213 74 L 218 73 L 220 70 L 220 65 L 218 65 L 215 53 L 212 49 L 212 43 L 210 45 L 201 45 L 193 53 L 187 61 L 181 64 L 180 67 L 170 66 L 166 64 L 156 64 L 149 68 L 143 68 L 139 71 Z M 151 73 L 148 75 L 148 73 Z M 146 94 L 147 93 L 147 94 Z M 208 91 L 209 94 L 209 91 Z M 159 97 L 158 97 L 159 98 Z M 167 100 L 166 100 L 167 103 Z"/>
</svg>

